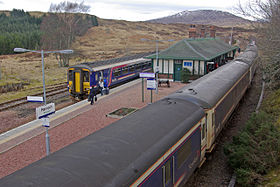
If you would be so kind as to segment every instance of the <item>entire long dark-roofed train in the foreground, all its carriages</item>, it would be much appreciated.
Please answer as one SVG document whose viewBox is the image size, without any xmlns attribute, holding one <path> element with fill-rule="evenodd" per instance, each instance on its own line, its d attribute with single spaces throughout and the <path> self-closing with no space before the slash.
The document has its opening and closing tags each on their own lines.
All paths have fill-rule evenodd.
<svg viewBox="0 0 280 187">
<path fill-rule="evenodd" d="M 250 86 L 257 47 L 160 101 L 0 180 L 0 186 L 181 186 Z"/>
</svg>

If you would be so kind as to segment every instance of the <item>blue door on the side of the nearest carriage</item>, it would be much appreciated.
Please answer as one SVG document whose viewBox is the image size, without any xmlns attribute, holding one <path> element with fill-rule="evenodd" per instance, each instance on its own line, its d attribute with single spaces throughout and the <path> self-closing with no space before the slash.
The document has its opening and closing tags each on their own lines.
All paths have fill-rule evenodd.
<svg viewBox="0 0 280 187">
<path fill-rule="evenodd" d="M 162 166 L 162 186 L 171 187 L 175 184 L 175 157 L 170 157 Z"/>
</svg>

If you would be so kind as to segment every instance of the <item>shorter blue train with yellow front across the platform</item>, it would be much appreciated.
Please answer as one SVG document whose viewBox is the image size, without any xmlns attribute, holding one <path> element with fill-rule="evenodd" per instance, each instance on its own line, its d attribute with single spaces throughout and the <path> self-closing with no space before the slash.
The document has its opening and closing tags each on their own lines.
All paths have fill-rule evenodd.
<svg viewBox="0 0 280 187">
<path fill-rule="evenodd" d="M 153 52 L 141 53 L 103 61 L 85 62 L 70 66 L 67 70 L 67 83 L 73 100 L 85 99 L 90 88 L 102 79 L 104 89 L 119 85 L 139 77 L 140 72 L 152 70 L 151 60 L 144 57 Z"/>
</svg>

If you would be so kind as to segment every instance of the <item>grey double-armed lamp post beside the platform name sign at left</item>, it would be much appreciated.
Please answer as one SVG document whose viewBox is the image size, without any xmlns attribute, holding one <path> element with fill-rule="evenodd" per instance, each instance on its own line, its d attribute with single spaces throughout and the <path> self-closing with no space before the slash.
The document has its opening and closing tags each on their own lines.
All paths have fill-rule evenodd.
<svg viewBox="0 0 280 187">
<path fill-rule="evenodd" d="M 23 48 L 14 48 L 14 52 L 18 53 L 24 53 L 24 52 L 33 52 L 33 53 L 40 53 L 42 58 L 42 76 L 43 76 L 43 92 L 44 92 L 44 105 L 47 104 L 46 99 L 46 84 L 45 84 L 45 67 L 44 67 L 44 54 L 48 53 L 60 53 L 60 54 L 71 54 L 73 53 L 73 50 L 67 49 L 67 50 L 57 50 L 57 51 L 36 51 L 36 50 L 29 50 L 29 49 L 23 49 Z M 50 141 L 49 141 L 49 134 L 48 134 L 48 126 L 46 126 L 46 153 L 47 156 L 50 154 Z"/>
</svg>

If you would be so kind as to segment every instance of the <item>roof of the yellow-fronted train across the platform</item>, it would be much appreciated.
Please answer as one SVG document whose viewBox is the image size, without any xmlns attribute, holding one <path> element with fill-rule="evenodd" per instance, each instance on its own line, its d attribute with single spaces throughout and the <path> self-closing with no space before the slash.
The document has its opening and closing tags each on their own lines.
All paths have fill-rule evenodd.
<svg viewBox="0 0 280 187">
<path fill-rule="evenodd" d="M 153 53 L 154 52 L 147 52 L 147 53 L 123 56 L 120 58 L 113 58 L 113 59 L 108 59 L 108 60 L 100 60 L 100 61 L 95 61 L 95 62 L 84 62 L 81 64 L 71 66 L 69 68 L 82 67 L 82 68 L 92 69 L 93 71 L 98 71 L 101 69 L 106 69 L 106 68 L 116 66 L 116 64 L 122 65 L 122 64 L 133 63 L 133 62 L 137 63 L 139 61 L 148 61 L 147 59 L 144 59 L 144 57 L 151 55 Z M 106 66 L 106 67 L 104 67 L 104 66 Z"/>
</svg>

